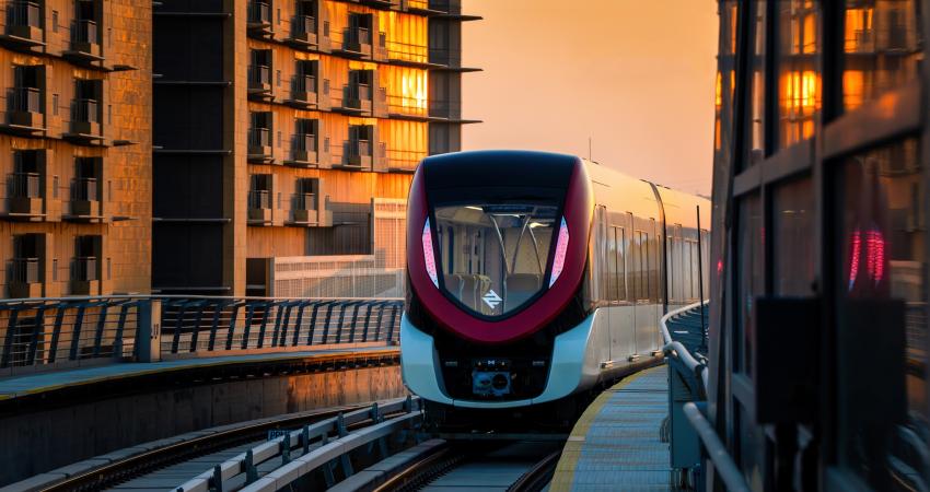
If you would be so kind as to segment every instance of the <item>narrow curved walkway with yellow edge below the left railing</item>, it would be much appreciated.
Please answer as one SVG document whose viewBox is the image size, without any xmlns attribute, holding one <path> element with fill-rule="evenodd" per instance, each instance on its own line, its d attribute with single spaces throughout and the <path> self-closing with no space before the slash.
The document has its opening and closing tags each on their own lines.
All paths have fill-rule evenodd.
<svg viewBox="0 0 930 492">
<path fill-rule="evenodd" d="M 147 376 L 184 376 L 204 370 L 235 368 L 236 366 L 326 363 L 364 358 L 399 358 L 396 345 L 344 344 L 322 345 L 316 350 L 266 353 L 231 353 L 223 356 L 200 356 L 161 362 L 120 362 L 91 367 L 32 373 L 0 378 L 0 403 L 26 397 L 48 396 L 61 390 L 80 390 L 94 385 L 135 384 Z"/>
</svg>

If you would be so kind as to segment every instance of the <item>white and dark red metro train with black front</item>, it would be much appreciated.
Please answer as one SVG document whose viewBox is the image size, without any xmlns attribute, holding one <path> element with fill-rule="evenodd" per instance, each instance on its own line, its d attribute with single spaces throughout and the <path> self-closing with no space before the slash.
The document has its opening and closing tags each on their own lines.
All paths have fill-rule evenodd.
<svg viewBox="0 0 930 492">
<path fill-rule="evenodd" d="M 571 155 L 423 160 L 400 351 L 427 421 L 565 426 L 600 388 L 661 361 L 660 317 L 706 288 L 709 218 L 704 198 Z"/>
</svg>

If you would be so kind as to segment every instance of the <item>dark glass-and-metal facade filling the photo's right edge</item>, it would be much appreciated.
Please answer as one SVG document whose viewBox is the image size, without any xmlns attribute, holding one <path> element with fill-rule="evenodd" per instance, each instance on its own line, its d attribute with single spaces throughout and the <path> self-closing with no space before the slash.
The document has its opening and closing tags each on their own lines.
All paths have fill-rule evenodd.
<svg viewBox="0 0 930 492">
<path fill-rule="evenodd" d="M 751 490 L 927 490 L 926 5 L 718 4 L 708 414 Z"/>
</svg>

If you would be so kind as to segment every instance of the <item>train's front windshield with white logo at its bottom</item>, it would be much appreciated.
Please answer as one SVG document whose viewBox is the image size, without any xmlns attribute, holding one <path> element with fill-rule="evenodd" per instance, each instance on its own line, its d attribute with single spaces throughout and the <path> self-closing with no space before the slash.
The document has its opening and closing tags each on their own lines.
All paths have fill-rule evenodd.
<svg viewBox="0 0 930 492">
<path fill-rule="evenodd" d="M 547 202 L 438 206 L 437 259 L 446 293 L 475 313 L 502 316 L 546 285 L 558 207 Z"/>
</svg>

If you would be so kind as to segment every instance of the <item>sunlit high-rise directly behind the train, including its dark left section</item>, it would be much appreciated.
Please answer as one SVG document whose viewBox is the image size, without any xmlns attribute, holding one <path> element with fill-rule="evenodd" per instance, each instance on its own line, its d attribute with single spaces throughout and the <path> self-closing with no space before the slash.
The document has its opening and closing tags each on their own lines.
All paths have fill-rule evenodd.
<svg viewBox="0 0 930 492">
<path fill-rule="evenodd" d="M 163 0 L 155 292 L 403 292 L 412 171 L 460 150 L 460 0 Z"/>
</svg>

